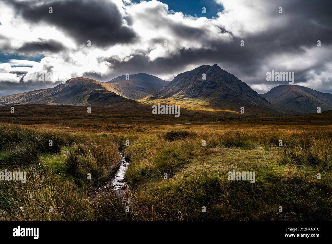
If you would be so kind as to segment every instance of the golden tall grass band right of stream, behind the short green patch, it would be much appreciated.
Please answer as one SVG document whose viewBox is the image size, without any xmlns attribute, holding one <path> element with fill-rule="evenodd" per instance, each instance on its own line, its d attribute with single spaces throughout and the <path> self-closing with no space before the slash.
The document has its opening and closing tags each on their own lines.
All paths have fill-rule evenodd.
<svg viewBox="0 0 332 244">
<path fill-rule="evenodd" d="M 297 167 L 309 165 L 330 171 L 332 164 L 332 138 L 330 131 L 294 131 L 264 129 L 225 129 L 210 131 L 171 130 L 157 136 L 132 138 L 134 143 L 124 149 L 124 154 L 135 162 L 127 170 L 126 176 L 131 183 L 148 176 L 156 177 L 168 173 L 175 174 L 185 164 L 190 163 L 196 154 L 209 153 L 211 148 L 253 149 L 263 146 L 280 147 L 283 158 L 281 163 Z M 131 141 L 132 141 L 131 140 Z M 206 146 L 202 146 L 202 141 Z"/>
</svg>

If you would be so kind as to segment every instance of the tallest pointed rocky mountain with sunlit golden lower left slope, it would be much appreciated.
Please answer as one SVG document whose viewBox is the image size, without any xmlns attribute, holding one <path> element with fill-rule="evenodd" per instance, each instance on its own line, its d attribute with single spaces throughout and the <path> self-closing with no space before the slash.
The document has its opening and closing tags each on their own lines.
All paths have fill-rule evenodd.
<svg viewBox="0 0 332 244">
<path fill-rule="evenodd" d="M 203 74 L 206 79 L 203 80 Z M 143 103 L 172 103 L 188 108 L 222 109 L 261 115 L 290 115 L 269 103 L 246 83 L 214 64 L 202 65 L 177 75 L 168 86 L 139 100 Z"/>
</svg>

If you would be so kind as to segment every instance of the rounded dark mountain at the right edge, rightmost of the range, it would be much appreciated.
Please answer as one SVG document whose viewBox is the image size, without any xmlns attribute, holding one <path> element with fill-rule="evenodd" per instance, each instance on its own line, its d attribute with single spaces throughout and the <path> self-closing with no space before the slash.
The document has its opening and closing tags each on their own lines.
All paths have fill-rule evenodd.
<svg viewBox="0 0 332 244">
<path fill-rule="evenodd" d="M 298 85 L 279 85 L 261 94 L 270 103 L 302 113 L 332 110 L 332 94 L 323 93 Z"/>
</svg>

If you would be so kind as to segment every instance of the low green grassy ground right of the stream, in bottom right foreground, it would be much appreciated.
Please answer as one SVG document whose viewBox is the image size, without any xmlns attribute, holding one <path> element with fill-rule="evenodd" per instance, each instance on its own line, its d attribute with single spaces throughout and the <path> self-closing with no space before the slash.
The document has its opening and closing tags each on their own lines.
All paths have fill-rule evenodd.
<svg viewBox="0 0 332 244">
<path fill-rule="evenodd" d="M 287 213 L 291 220 L 331 220 L 331 178 L 320 182 L 313 172 L 285 175 L 287 166 L 274 159 L 276 152 L 234 148 L 210 160 L 195 160 L 168 180 L 146 184 L 139 190 L 141 199 L 155 209 L 164 211 L 168 206 L 169 216 L 185 212 L 186 220 L 283 220 Z M 255 171 L 256 182 L 227 181 L 227 172 L 233 169 Z M 278 212 L 279 206 L 284 214 Z"/>
</svg>

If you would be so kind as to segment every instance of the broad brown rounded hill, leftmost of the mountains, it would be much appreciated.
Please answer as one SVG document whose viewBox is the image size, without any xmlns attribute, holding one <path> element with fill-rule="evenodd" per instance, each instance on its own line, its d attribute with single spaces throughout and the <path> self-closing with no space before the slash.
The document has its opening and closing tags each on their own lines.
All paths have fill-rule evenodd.
<svg viewBox="0 0 332 244">
<path fill-rule="evenodd" d="M 52 104 L 52 105 L 95 105 L 95 106 L 135 106 L 140 105 L 131 99 L 122 97 L 110 83 L 88 78 L 72 78 L 65 84 L 53 88 L 24 92 L 1 97 L 15 104 Z M 3 100 L 2 100 L 3 101 Z"/>
</svg>

